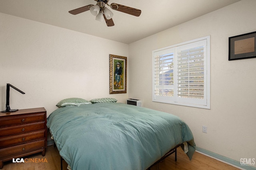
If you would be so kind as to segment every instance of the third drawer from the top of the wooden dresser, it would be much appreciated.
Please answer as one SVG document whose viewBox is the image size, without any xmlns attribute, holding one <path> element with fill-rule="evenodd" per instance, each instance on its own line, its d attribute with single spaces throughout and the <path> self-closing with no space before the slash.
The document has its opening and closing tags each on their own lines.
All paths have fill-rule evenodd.
<svg viewBox="0 0 256 170">
<path fill-rule="evenodd" d="M 1 137 L 0 138 L 0 149 L 4 147 L 10 147 L 14 145 L 19 145 L 22 143 L 28 143 L 30 141 L 44 139 L 45 131 L 38 131 L 32 133 L 24 133 L 22 135 L 15 135 L 15 136 L 8 136 L 8 137 Z"/>
</svg>

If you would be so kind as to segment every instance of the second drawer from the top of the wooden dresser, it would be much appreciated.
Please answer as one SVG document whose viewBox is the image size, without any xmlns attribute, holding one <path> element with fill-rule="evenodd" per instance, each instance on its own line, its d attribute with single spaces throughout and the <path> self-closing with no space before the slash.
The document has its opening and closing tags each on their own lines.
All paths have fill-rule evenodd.
<svg viewBox="0 0 256 170">
<path fill-rule="evenodd" d="M 42 130 L 46 129 L 45 122 L 5 127 L 5 128 L 0 129 L 0 137 L 20 134 L 20 133 L 27 133 L 27 132 L 31 132 L 31 131 L 38 131 L 41 129 Z"/>
</svg>

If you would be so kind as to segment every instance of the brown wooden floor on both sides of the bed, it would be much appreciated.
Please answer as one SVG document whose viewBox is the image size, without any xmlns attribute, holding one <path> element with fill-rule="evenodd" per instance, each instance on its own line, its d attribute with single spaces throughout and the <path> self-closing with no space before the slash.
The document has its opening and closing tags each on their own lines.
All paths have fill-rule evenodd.
<svg viewBox="0 0 256 170">
<path fill-rule="evenodd" d="M 47 162 L 38 163 L 13 163 L 11 161 L 4 162 L 2 170 L 60 170 L 60 155 L 58 149 L 53 145 L 48 146 L 46 155 L 43 157 L 41 153 L 33 154 L 26 158 L 46 158 Z M 25 157 L 24 157 L 25 159 Z M 233 166 L 195 152 L 192 160 L 184 154 L 183 150 L 179 147 L 177 153 L 177 161 L 174 161 L 174 154 L 155 165 L 151 170 L 239 170 Z M 67 170 L 67 164 L 63 161 L 63 170 Z"/>
</svg>

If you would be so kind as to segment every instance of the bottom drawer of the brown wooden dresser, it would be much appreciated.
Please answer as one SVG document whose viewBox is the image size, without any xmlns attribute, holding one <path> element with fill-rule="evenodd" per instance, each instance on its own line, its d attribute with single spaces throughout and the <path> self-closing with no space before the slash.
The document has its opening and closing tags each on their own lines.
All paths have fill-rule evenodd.
<svg viewBox="0 0 256 170">
<path fill-rule="evenodd" d="M 33 150 L 44 149 L 45 147 L 46 147 L 45 140 L 41 140 L 41 141 L 36 141 L 36 142 L 24 144 L 24 145 L 18 145 L 15 147 L 9 147 L 6 149 L 0 149 L 0 158 L 17 155 L 17 154 L 25 154 Z"/>
</svg>

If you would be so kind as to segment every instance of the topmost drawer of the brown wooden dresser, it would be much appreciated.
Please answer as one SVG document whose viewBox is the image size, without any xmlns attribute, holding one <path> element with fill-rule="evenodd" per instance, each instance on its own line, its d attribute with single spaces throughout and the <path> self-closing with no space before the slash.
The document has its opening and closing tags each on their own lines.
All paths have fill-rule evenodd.
<svg viewBox="0 0 256 170">
<path fill-rule="evenodd" d="M 18 116 L 12 116 L 12 117 L 6 117 L 3 119 L 0 119 L 0 126 L 5 127 L 5 126 L 18 125 L 18 124 L 39 122 L 39 121 L 44 121 L 44 119 L 45 119 L 45 113 L 18 115 Z"/>
</svg>

